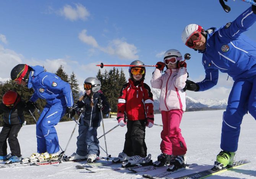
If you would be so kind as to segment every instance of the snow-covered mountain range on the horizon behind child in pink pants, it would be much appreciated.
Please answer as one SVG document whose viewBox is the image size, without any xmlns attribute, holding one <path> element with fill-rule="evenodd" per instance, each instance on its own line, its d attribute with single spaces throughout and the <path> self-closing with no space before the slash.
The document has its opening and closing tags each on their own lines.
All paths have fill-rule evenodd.
<svg viewBox="0 0 256 179">
<path fill-rule="evenodd" d="M 154 99 L 154 110 L 159 109 L 159 97 L 160 89 L 152 88 Z M 186 109 L 196 109 L 196 108 L 217 108 L 224 109 L 227 106 L 227 100 L 215 100 L 215 99 L 193 99 L 192 97 L 186 96 Z"/>
</svg>

